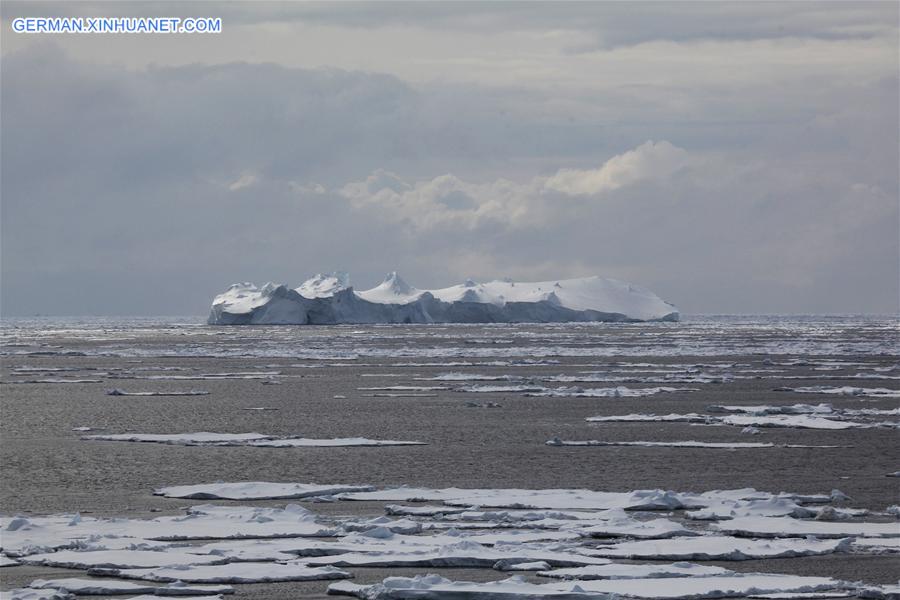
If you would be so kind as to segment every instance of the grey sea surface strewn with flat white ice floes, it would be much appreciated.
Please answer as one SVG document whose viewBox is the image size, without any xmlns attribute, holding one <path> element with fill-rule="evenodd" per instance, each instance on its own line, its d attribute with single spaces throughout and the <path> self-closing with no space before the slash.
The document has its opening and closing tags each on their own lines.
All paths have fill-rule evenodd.
<svg viewBox="0 0 900 600">
<path fill-rule="evenodd" d="M 896 511 L 888 510 L 900 497 L 900 479 L 886 476 L 900 468 L 893 428 L 900 390 L 896 318 L 686 317 L 680 323 L 651 324 L 234 328 L 201 323 L 202 318 L 4 322 L 0 328 L 0 514 L 7 519 L 22 515 L 26 520 L 41 515 L 60 519 L 66 514 L 67 519 L 59 522 L 70 533 L 87 531 L 84 524 L 93 523 L 91 519 L 108 517 L 141 523 L 160 519 L 168 524 L 197 501 L 154 495 L 154 490 L 248 481 L 299 489 L 316 482 L 323 486 L 322 495 L 299 501 L 325 520 L 321 525 L 328 534 L 338 537 L 272 539 L 280 526 L 277 519 L 266 519 L 281 513 L 265 510 L 283 508 L 296 499 L 208 500 L 225 507 L 222 515 L 232 517 L 250 514 L 257 519 L 253 516 L 257 513 L 245 509 L 235 513 L 237 502 L 265 509 L 258 513 L 260 522 L 233 518 L 228 522 L 239 534 L 267 539 L 216 542 L 217 551 L 250 560 L 250 566 L 241 571 L 249 578 L 268 574 L 270 580 L 304 579 L 308 572 L 316 573 L 309 569 L 322 568 L 304 566 L 302 558 L 284 569 L 272 566 L 274 560 L 285 564 L 296 560 L 296 553 L 284 554 L 294 546 L 295 551 L 318 556 L 321 565 L 359 565 L 337 568 L 354 576 L 353 585 L 363 587 L 340 584 L 334 591 L 378 594 L 380 588 L 368 586 L 400 576 L 412 578 L 409 582 L 418 591 L 410 593 L 421 597 L 441 597 L 442 590 L 475 594 L 472 597 L 507 589 L 570 594 L 571 583 L 553 587 L 552 578 L 537 574 L 548 566 L 553 570 L 553 553 L 563 553 L 550 550 L 548 556 L 548 548 L 559 544 L 568 548 L 567 553 L 573 544 L 595 548 L 592 557 L 585 556 L 615 564 L 620 555 L 633 554 L 644 561 L 655 553 L 658 559 L 623 563 L 647 565 L 643 567 L 595 564 L 585 567 L 587 579 L 604 573 L 623 578 L 669 573 L 691 579 L 715 567 L 738 574 L 787 574 L 870 585 L 897 581 L 897 538 L 876 537 L 895 530 L 900 533 Z M 195 386 L 209 393 L 161 395 Z M 475 391 L 473 386 L 498 389 Z M 420 393 L 423 388 L 428 388 L 427 393 Z M 647 392 L 590 391 L 616 388 Z M 653 388 L 673 389 L 649 393 Z M 149 395 L 108 395 L 110 389 Z M 564 389 L 565 393 L 529 395 L 535 389 Z M 484 410 L 486 406 L 490 410 Z M 247 410 L 252 407 L 271 410 Z M 691 414 L 702 417 L 693 423 L 691 419 L 586 421 L 589 417 Z M 763 425 L 763 417 L 785 416 L 806 421 L 815 417 L 824 421 L 820 424 L 837 427 L 807 429 L 792 426 L 804 419 L 794 423 L 781 418 L 776 420 L 787 426 L 749 427 L 743 433 L 743 423 L 724 423 L 727 417 L 738 417 L 737 421 L 752 417 Z M 717 419 L 723 422 L 716 424 Z M 841 424 L 853 425 L 841 428 Z M 268 439 L 323 441 L 325 447 L 305 442 L 271 448 L 81 439 L 88 428 L 91 435 L 132 437 L 256 432 Z M 426 445 L 337 443 L 351 438 L 417 440 Z M 596 443 L 546 444 L 554 439 Z M 348 501 L 328 493 L 347 484 L 371 485 L 376 490 L 406 485 L 424 490 L 675 490 L 678 494 L 752 487 L 793 495 L 756 499 L 755 504 L 722 500 L 661 514 L 629 512 L 612 519 L 613 515 L 588 508 L 591 502 L 554 500 L 538 503 L 551 508 L 534 509 L 515 506 L 518 500 L 498 501 L 494 494 L 487 503 L 501 506 L 489 508 L 474 506 L 479 497 L 475 494 L 467 506 L 458 506 L 459 500 L 453 498 L 447 498 L 451 506 L 441 499 L 423 504 L 403 497 L 399 500 L 403 506 L 386 508 L 398 501 L 381 496 L 396 494 Z M 835 488 L 841 493 L 832 494 Z M 75 513 L 81 513 L 82 525 L 69 527 Z M 207 509 L 206 514 L 215 513 Z M 5 526 L 10 522 L 4 521 Z M 305 533 L 307 526 L 294 523 L 283 529 L 283 533 L 297 534 Z M 665 537 L 682 529 L 701 535 L 641 538 Z M 43 534 L 39 539 L 44 541 L 55 535 L 52 531 Z M 808 534 L 821 539 L 797 537 Z M 434 536 L 433 541 L 440 544 L 413 550 L 412 557 L 408 547 L 406 551 L 385 547 L 392 539 L 409 544 L 423 536 Z M 851 538 L 855 541 L 845 541 Z M 465 543 L 460 546 L 457 540 Z M 327 558 L 349 553 L 351 542 L 355 549 L 379 554 L 356 552 L 346 560 Z M 465 545 L 472 542 L 488 550 Z M 510 542 L 531 550 L 510 552 Z M 138 559 L 155 558 L 146 552 L 160 551 L 160 543 L 178 542 L 143 540 L 143 546 L 133 551 L 144 554 L 127 554 L 122 558 L 135 562 L 124 564 L 149 564 Z M 500 550 L 494 547 L 497 543 Z M 106 539 L 105 544 L 113 552 L 127 549 L 124 539 Z M 440 548 L 446 548 L 444 554 Z M 183 550 L 172 549 L 172 556 Z M 253 567 L 252 560 L 260 557 L 264 562 Z M 660 562 L 663 557 L 668 562 Z M 704 560 L 702 568 L 672 566 L 673 560 L 696 557 Z M 58 558 L 43 564 L 4 566 L 0 588 L 24 587 L 37 579 L 84 577 L 84 571 L 54 565 L 88 565 L 89 561 L 72 562 L 71 555 Z M 471 567 L 487 564 L 489 558 L 499 558 L 497 568 Z M 706 560 L 710 558 L 715 560 Z M 531 562 L 521 562 L 526 559 Z M 196 559 L 191 577 L 227 580 L 228 565 L 199 564 L 204 560 Z M 508 574 L 501 568 L 521 570 L 527 585 L 483 589 L 476 585 L 506 579 Z M 414 579 L 432 572 L 450 583 Z M 134 574 L 143 573 L 127 575 Z M 167 579 L 165 573 L 153 575 L 157 576 L 160 581 Z M 761 586 L 754 589 L 770 590 L 767 586 L 773 582 L 777 588 L 780 581 L 785 582 L 784 591 L 831 585 L 760 577 Z M 149 579 L 138 583 L 163 585 Z M 746 579 L 707 583 L 706 587 L 684 585 L 695 594 L 711 593 L 710 588 L 749 593 L 753 587 Z M 233 585 L 235 597 L 314 598 L 324 597 L 328 581 Z M 403 585 L 398 583 L 392 593 L 406 593 Z M 540 585 L 549 587 L 535 587 Z M 627 592 L 640 584 L 591 585 L 586 583 L 583 589 L 600 594 Z"/>
</svg>

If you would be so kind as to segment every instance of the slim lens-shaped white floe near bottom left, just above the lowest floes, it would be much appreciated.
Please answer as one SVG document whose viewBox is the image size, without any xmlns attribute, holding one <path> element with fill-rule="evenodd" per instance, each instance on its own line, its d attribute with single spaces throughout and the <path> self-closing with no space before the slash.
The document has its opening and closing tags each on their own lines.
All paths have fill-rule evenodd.
<svg viewBox="0 0 900 600">
<path fill-rule="evenodd" d="M 334 567 L 311 567 L 305 561 L 235 562 L 227 565 L 190 565 L 159 569 L 98 569 L 98 575 L 145 581 L 185 583 L 268 583 L 318 581 L 350 577 Z"/>
</svg>

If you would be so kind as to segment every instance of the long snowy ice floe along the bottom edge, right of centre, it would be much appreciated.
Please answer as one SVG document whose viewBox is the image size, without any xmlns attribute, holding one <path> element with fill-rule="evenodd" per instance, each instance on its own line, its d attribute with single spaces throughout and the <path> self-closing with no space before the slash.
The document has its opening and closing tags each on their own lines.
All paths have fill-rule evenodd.
<svg viewBox="0 0 900 600">
<path fill-rule="evenodd" d="M 840 590 L 847 584 L 828 577 L 768 575 L 760 573 L 711 577 L 672 577 L 652 579 L 596 579 L 555 583 L 529 583 L 520 576 L 503 581 L 475 583 L 451 581 L 438 575 L 389 577 L 380 584 L 359 585 L 350 582 L 332 584 L 330 594 L 356 596 L 365 600 L 467 600 L 534 598 L 597 598 L 635 596 L 658 600 L 686 598 L 728 598 L 769 592 L 818 592 Z"/>
</svg>

